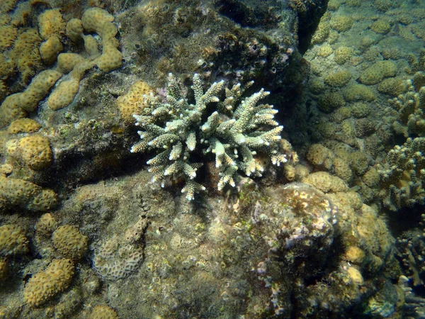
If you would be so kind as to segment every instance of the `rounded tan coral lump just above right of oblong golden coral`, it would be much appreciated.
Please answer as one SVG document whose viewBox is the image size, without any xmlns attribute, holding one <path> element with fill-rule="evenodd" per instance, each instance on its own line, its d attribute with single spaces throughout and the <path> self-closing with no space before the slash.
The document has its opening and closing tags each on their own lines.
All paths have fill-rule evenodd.
<svg viewBox="0 0 425 319">
<path fill-rule="evenodd" d="M 57 228 L 52 234 L 52 241 L 55 248 L 64 257 L 71 259 L 83 257 L 89 245 L 89 239 L 72 225 L 63 225 Z"/>
</svg>

